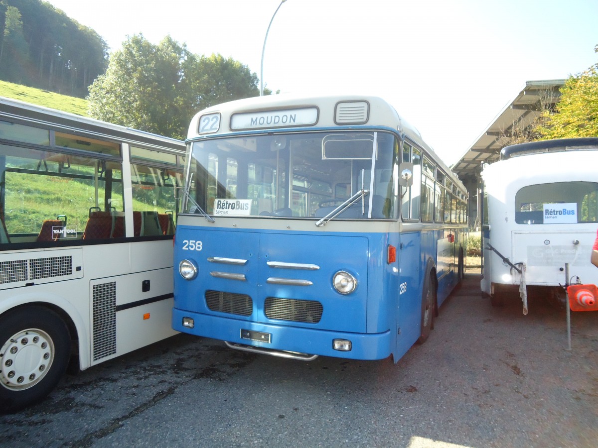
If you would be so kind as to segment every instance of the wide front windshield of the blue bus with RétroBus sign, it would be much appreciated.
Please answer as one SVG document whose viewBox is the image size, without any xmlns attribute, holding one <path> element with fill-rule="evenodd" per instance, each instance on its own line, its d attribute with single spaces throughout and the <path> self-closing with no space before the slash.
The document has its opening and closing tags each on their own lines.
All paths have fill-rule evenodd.
<svg viewBox="0 0 598 448">
<path fill-rule="evenodd" d="M 364 131 L 194 142 L 187 179 L 197 204 L 187 201 L 184 213 L 199 205 L 216 217 L 321 218 L 364 188 L 369 194 L 338 218 L 396 219 L 398 148 L 393 134 Z"/>
</svg>

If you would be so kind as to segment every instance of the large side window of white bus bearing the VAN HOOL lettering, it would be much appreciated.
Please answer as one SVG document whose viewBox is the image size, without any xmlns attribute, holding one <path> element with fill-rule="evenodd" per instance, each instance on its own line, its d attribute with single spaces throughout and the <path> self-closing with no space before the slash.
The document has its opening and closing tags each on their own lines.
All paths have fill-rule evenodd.
<svg viewBox="0 0 598 448">
<path fill-rule="evenodd" d="M 0 145 L 0 161 L 0 204 L 10 243 L 83 238 L 91 216 L 124 210 L 120 161 L 7 145 Z M 87 238 L 110 233 L 88 232 Z"/>
</svg>

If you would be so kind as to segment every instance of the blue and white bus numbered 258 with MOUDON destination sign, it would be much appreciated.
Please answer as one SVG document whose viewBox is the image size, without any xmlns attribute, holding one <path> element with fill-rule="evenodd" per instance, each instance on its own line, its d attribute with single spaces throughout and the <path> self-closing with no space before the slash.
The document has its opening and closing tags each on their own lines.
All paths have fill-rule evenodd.
<svg viewBox="0 0 598 448">
<path fill-rule="evenodd" d="M 378 97 L 197 113 L 173 329 L 301 360 L 395 362 L 463 277 L 466 190 Z"/>
</svg>

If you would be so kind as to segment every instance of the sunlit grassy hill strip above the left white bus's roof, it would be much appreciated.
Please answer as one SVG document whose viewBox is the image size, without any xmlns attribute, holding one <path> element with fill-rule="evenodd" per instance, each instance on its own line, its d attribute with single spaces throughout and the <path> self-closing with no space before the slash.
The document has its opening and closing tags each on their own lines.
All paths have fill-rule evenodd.
<svg viewBox="0 0 598 448">
<path fill-rule="evenodd" d="M 0 81 L 0 96 L 32 103 L 45 108 L 87 116 L 87 100 L 48 92 L 12 82 Z"/>
</svg>

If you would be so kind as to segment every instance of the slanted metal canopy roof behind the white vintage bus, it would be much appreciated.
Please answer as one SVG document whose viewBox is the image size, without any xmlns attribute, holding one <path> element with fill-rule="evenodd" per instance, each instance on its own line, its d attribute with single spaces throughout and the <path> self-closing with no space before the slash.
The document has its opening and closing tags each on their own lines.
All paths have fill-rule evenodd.
<svg viewBox="0 0 598 448">
<path fill-rule="evenodd" d="M 513 134 L 524 130 L 538 118 L 542 110 L 554 109 L 559 102 L 559 89 L 566 79 L 527 81 L 514 100 L 496 116 L 492 124 L 475 140 L 471 148 L 453 165 L 464 183 L 479 177 L 482 162 L 498 160 L 501 149 L 512 142 Z"/>
</svg>

